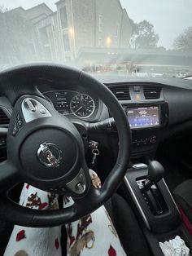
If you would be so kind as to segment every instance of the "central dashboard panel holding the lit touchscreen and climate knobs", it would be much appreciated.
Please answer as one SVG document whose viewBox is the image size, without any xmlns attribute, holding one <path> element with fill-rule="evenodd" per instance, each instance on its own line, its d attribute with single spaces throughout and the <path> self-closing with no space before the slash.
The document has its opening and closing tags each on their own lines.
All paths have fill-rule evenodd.
<svg viewBox="0 0 192 256">
<path fill-rule="evenodd" d="M 123 104 L 132 130 L 132 157 L 155 151 L 162 130 L 168 125 L 168 104 Z"/>
</svg>

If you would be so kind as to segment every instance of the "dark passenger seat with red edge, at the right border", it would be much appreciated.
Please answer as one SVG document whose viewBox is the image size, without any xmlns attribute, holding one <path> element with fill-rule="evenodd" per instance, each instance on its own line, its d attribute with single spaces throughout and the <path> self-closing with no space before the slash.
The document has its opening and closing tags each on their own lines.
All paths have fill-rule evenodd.
<svg viewBox="0 0 192 256">
<path fill-rule="evenodd" d="M 181 183 L 173 192 L 185 227 L 192 235 L 192 179 Z"/>
</svg>

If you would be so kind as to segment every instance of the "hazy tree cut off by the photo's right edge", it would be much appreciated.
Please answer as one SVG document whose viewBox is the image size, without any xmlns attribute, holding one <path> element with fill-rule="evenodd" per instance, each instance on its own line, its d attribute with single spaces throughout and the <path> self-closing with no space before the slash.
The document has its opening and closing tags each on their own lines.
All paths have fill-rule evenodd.
<svg viewBox="0 0 192 256">
<path fill-rule="evenodd" d="M 185 31 L 175 39 L 173 47 L 177 51 L 192 51 L 192 27 L 185 29 Z"/>
</svg>

